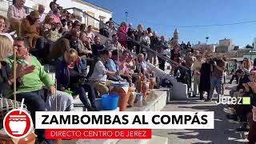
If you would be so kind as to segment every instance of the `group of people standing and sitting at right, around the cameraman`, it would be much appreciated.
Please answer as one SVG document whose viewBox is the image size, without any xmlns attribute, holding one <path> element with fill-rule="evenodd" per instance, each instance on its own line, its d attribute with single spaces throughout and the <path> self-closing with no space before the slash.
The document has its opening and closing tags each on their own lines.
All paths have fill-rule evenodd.
<svg viewBox="0 0 256 144">
<path fill-rule="evenodd" d="M 252 64 L 256 62 L 256 59 L 254 62 L 250 61 L 248 58 L 244 58 L 242 62 L 238 62 L 236 59 L 227 62 L 226 58 L 211 58 L 207 54 L 195 55 L 195 59 L 195 61 L 189 59 L 189 66 L 186 66 L 186 62 L 184 62 L 184 66 L 189 68 L 190 62 L 193 63 L 190 69 L 193 71 L 194 78 L 193 97 L 196 97 L 199 93 L 199 98 L 202 100 L 204 94 L 206 94 L 206 102 L 212 100 L 214 90 L 216 90 L 218 94 L 218 101 L 221 101 L 224 95 L 222 92 L 223 84 L 227 83 L 225 82 L 227 67 L 229 64 L 232 64 L 232 78 L 228 83 L 232 84 L 234 79 L 236 79 L 236 86 L 231 88 L 230 96 L 237 98 L 238 101 L 239 98 L 249 97 L 250 102 L 248 105 L 239 103 L 229 104 L 228 108 L 224 108 L 224 111 L 227 113 L 227 118 L 242 124 L 242 126 L 237 129 L 238 131 L 249 131 L 248 140 L 250 143 L 256 142 L 256 108 L 254 107 L 256 106 L 256 91 L 254 91 L 256 89 L 256 71 L 254 69 L 255 64 Z M 184 58 L 184 60 L 186 61 L 186 58 Z M 188 72 L 188 74 L 189 73 L 190 72 Z M 248 126 L 250 128 L 248 128 Z"/>
</svg>

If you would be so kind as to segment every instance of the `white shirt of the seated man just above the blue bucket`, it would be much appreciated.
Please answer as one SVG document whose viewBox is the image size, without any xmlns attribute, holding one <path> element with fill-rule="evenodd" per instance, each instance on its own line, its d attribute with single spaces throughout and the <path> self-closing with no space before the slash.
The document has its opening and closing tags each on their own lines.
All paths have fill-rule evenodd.
<svg viewBox="0 0 256 144">
<path fill-rule="evenodd" d="M 106 72 L 107 72 L 106 67 L 104 66 L 102 61 L 98 61 L 95 64 L 94 72 L 90 76 L 89 80 L 106 83 L 106 78 L 107 78 Z"/>
</svg>

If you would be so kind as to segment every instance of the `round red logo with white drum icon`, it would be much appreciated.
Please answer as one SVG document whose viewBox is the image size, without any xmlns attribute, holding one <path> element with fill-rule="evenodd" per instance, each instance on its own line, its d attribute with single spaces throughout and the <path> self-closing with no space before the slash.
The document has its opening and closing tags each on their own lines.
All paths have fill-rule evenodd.
<svg viewBox="0 0 256 144">
<path fill-rule="evenodd" d="M 6 114 L 3 126 L 11 138 L 25 138 L 30 134 L 33 122 L 26 110 L 14 109 Z"/>
</svg>

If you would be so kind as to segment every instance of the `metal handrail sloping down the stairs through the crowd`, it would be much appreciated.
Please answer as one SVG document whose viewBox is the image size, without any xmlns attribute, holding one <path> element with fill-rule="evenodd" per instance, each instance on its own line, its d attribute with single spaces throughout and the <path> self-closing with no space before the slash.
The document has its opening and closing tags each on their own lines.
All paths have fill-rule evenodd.
<svg viewBox="0 0 256 144">
<path fill-rule="evenodd" d="M 93 16 L 90 16 L 89 14 L 87 14 L 85 11 L 82 11 L 76 7 L 72 7 L 72 8 L 67 8 L 67 9 L 64 9 L 64 10 L 78 10 L 80 12 L 82 12 L 83 14 L 86 14 L 87 16 L 89 16 L 90 18 L 93 18 L 95 21 L 97 22 L 101 22 L 100 20 L 98 20 L 97 18 L 94 18 Z M 106 23 L 103 23 L 104 26 L 107 26 Z M 108 26 L 107 26 L 108 27 Z M 118 31 L 117 31 L 118 32 Z M 142 45 L 141 43 L 135 41 L 133 38 L 130 38 L 126 35 L 126 37 L 131 41 L 131 42 L 134 42 L 136 44 L 138 44 L 139 46 L 142 46 L 142 48 L 145 48 L 146 50 L 149 50 L 150 52 L 152 52 L 153 54 L 157 55 L 158 58 L 162 58 L 163 60 L 165 60 L 166 62 L 169 62 L 171 65 L 173 66 L 178 66 L 182 69 L 185 69 L 185 70 L 189 70 L 188 68 L 186 68 L 185 66 L 182 66 L 181 64 L 177 63 L 177 62 L 174 62 L 173 60 L 171 60 L 170 58 L 166 57 L 166 56 L 163 56 L 162 54 L 158 54 L 158 52 L 150 49 L 150 47 L 147 47 L 147 46 L 144 46 Z"/>
</svg>

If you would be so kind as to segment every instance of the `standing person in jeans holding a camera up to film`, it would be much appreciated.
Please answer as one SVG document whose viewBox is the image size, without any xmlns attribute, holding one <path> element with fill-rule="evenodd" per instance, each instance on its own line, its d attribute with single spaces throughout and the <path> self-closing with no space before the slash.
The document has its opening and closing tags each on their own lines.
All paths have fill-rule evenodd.
<svg viewBox="0 0 256 144">
<path fill-rule="evenodd" d="M 210 65 L 212 71 L 212 75 L 210 78 L 210 98 L 212 98 L 214 94 L 214 88 L 216 88 L 218 96 L 222 94 L 222 78 L 224 75 L 224 70 L 226 68 L 226 62 L 224 62 L 222 58 L 214 58 L 210 62 Z"/>
</svg>

